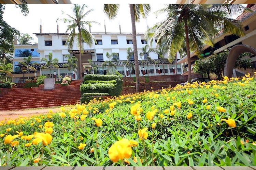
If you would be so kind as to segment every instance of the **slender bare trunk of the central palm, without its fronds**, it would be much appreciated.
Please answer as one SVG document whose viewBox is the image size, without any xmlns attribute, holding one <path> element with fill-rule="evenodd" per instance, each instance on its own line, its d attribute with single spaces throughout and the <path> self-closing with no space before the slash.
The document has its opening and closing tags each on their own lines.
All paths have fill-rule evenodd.
<svg viewBox="0 0 256 170">
<path fill-rule="evenodd" d="M 135 26 L 135 16 L 134 16 L 133 4 L 130 4 L 130 13 L 131 13 L 131 26 L 132 26 L 133 53 L 134 53 L 134 60 L 135 60 L 136 92 L 139 92 L 140 91 L 140 71 L 139 71 L 136 26 Z"/>
</svg>

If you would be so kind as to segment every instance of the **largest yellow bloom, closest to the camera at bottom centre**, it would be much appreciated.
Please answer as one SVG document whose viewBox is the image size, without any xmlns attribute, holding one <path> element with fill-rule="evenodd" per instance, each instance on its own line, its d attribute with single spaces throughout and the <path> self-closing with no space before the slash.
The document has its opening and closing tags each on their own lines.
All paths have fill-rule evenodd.
<svg viewBox="0 0 256 170">
<path fill-rule="evenodd" d="M 117 162 L 119 159 L 123 160 L 124 158 L 130 158 L 132 153 L 131 144 L 129 140 L 122 139 L 116 141 L 110 148 L 109 148 L 109 158 L 113 162 Z"/>
</svg>

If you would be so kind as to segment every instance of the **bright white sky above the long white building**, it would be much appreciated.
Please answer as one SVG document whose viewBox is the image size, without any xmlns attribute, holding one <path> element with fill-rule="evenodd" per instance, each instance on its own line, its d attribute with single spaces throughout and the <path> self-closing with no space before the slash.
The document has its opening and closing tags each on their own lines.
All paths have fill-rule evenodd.
<svg viewBox="0 0 256 170">
<path fill-rule="evenodd" d="M 76 3 L 81 0 L 72 0 L 73 3 Z M 40 24 L 42 23 L 43 33 L 56 33 L 57 32 L 57 18 L 65 18 L 66 15 L 62 15 L 62 11 L 67 14 L 72 15 L 73 4 L 28 4 L 29 14 L 28 16 L 23 16 L 20 12 L 20 8 L 16 8 L 14 4 L 6 4 L 3 14 L 3 20 L 5 20 L 10 26 L 16 28 L 21 33 L 28 33 L 34 38 L 34 42 L 38 42 L 38 38 L 33 33 L 39 33 Z M 132 32 L 131 28 L 131 17 L 129 4 L 122 3 L 120 4 L 120 9 L 117 15 L 117 18 L 110 20 L 103 13 L 103 3 L 102 4 L 90 4 L 87 3 L 88 8 L 94 9 L 93 12 L 90 12 L 85 20 L 87 21 L 97 21 L 100 25 L 93 24 L 91 27 L 91 32 L 104 32 L 104 20 L 106 24 L 106 32 L 119 32 L 119 23 L 121 25 L 122 32 Z M 151 4 L 151 13 L 147 17 L 147 20 L 141 18 L 139 23 L 136 23 L 137 32 L 145 32 L 146 26 L 152 27 L 155 23 L 161 21 L 165 18 L 165 15 L 156 15 L 155 11 L 161 9 L 164 4 Z M 62 21 L 58 21 L 59 32 L 65 33 L 67 29 L 67 24 L 64 24 Z M 87 29 L 89 29 L 87 27 Z M 70 31 L 68 31 L 70 32 Z"/>
</svg>

